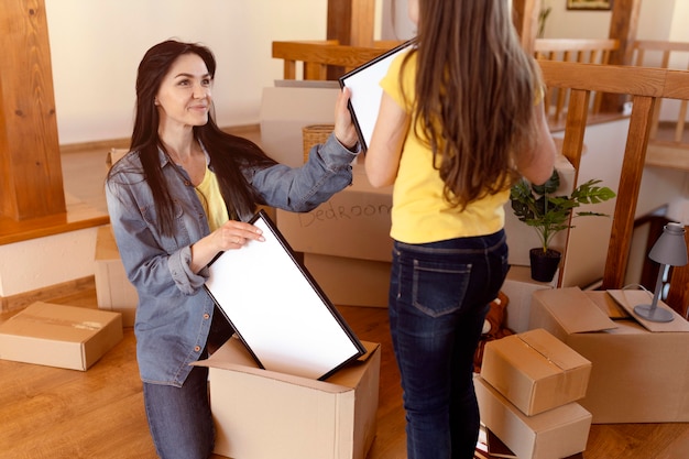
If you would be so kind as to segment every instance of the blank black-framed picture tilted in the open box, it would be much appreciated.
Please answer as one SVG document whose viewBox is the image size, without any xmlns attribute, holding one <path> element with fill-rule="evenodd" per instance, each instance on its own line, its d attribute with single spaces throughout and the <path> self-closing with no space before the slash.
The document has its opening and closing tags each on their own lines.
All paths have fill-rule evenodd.
<svg viewBox="0 0 689 459">
<path fill-rule="evenodd" d="M 265 241 L 221 252 L 205 288 L 260 368 L 325 380 L 365 353 L 270 217 L 250 221 Z"/>
</svg>

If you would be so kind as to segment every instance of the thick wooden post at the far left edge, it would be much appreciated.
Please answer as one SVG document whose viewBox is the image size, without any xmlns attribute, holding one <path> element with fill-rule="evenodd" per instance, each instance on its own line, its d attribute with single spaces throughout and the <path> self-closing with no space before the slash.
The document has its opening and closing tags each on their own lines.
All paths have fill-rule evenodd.
<svg viewBox="0 0 689 459">
<path fill-rule="evenodd" d="M 0 216 L 66 211 L 43 0 L 0 9 Z"/>
</svg>

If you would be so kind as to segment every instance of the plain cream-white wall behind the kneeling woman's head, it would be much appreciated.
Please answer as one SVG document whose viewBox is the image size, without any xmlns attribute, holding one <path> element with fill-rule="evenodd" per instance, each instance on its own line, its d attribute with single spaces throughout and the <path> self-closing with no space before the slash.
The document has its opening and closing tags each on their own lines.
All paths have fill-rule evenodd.
<svg viewBox="0 0 689 459">
<path fill-rule="evenodd" d="M 261 90 L 282 78 L 280 40 L 325 40 L 326 0 L 45 0 L 59 143 L 128 138 L 136 67 L 171 37 L 218 61 L 219 125 L 259 122 Z"/>
</svg>

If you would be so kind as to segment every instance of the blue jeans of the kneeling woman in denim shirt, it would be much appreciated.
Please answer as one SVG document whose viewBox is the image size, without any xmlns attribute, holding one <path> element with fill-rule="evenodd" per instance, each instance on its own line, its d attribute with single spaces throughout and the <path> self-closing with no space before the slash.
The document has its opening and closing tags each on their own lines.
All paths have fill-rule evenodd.
<svg viewBox="0 0 689 459">
<path fill-rule="evenodd" d="M 208 369 L 194 367 L 182 387 L 143 383 L 155 450 L 162 459 L 207 459 L 215 445 Z"/>
</svg>

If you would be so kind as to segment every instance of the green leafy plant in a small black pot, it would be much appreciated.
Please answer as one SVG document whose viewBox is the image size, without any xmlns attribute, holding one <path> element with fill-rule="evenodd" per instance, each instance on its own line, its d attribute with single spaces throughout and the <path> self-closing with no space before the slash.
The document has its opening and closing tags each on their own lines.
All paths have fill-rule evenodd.
<svg viewBox="0 0 689 459">
<path fill-rule="evenodd" d="M 514 215 L 520 221 L 534 228 L 540 239 L 540 247 L 529 251 L 532 278 L 539 282 L 553 281 L 562 254 L 550 247 L 550 240 L 558 232 L 573 228 L 572 218 L 606 216 L 592 211 L 572 215 L 572 210 L 582 204 L 598 204 L 615 197 L 612 189 L 599 186 L 600 183 L 599 179 L 590 179 L 579 185 L 571 195 L 557 196 L 560 176 L 554 171 L 543 185 L 533 185 L 523 178 L 512 187 L 510 200 Z"/>
</svg>

